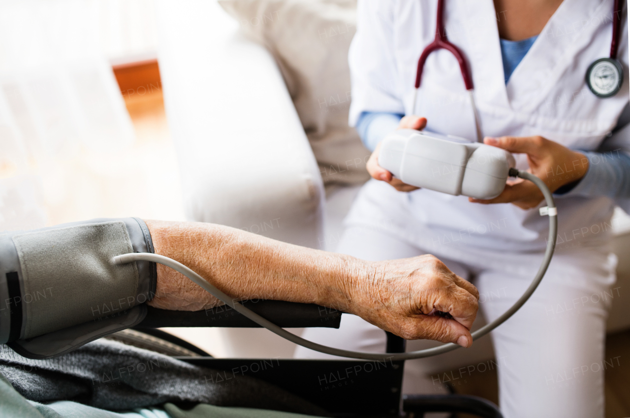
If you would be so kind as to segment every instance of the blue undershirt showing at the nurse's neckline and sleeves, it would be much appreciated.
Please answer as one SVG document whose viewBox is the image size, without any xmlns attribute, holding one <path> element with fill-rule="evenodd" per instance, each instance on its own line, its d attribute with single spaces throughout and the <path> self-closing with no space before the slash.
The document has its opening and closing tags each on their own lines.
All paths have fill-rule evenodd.
<svg viewBox="0 0 630 418">
<path fill-rule="evenodd" d="M 501 58 L 505 84 L 518 64 L 532 47 L 538 36 L 524 40 L 500 39 Z M 377 144 L 398 127 L 404 115 L 400 113 L 363 112 L 357 121 L 357 132 L 365 147 L 374 151 Z M 589 164 L 588 171 L 578 182 L 564 185 L 556 195 L 596 197 L 611 199 L 630 198 L 630 156 L 622 151 L 610 153 L 584 152 Z"/>
</svg>

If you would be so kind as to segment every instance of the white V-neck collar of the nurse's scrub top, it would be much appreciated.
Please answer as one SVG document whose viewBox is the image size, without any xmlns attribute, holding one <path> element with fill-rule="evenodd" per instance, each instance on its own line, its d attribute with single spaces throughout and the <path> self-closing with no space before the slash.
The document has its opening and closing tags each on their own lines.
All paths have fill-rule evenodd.
<svg viewBox="0 0 630 418">
<path fill-rule="evenodd" d="M 494 2 L 464 0 L 457 5 L 452 3 L 447 8 L 452 17 L 446 18 L 452 25 L 466 28 L 463 31 L 466 36 L 457 42 L 466 44 L 479 107 L 483 108 L 487 103 L 495 109 L 503 107 L 524 113 L 534 111 L 547 99 L 566 66 L 574 61 L 576 51 L 590 42 L 593 28 L 584 28 L 583 22 L 590 25 L 593 16 L 602 15 L 608 6 L 612 12 L 612 4 L 607 0 L 564 0 L 506 85 Z M 607 51 L 602 51 L 602 56 L 607 56 Z"/>
</svg>

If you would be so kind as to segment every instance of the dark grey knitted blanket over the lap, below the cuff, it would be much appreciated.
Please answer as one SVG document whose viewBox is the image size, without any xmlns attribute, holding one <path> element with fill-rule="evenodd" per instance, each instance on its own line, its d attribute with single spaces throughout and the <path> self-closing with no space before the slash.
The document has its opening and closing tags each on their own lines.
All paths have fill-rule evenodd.
<svg viewBox="0 0 630 418">
<path fill-rule="evenodd" d="M 26 399 L 74 400 L 107 410 L 164 402 L 274 409 L 329 416 L 302 398 L 264 381 L 240 376 L 215 381 L 217 371 L 111 340 L 96 340 L 54 359 L 33 360 L 0 345 L 0 373 Z"/>
</svg>

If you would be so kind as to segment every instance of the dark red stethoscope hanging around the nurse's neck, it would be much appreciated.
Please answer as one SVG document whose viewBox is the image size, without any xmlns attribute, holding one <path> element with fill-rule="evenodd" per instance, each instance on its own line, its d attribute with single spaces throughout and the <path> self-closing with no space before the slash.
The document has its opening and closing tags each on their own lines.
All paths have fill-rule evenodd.
<svg viewBox="0 0 630 418">
<path fill-rule="evenodd" d="M 612 11 L 612 41 L 610 41 L 610 58 L 600 58 L 593 62 L 588 67 L 586 74 L 586 82 L 590 91 L 595 96 L 600 98 L 607 98 L 617 94 L 617 91 L 621 89 L 621 84 L 624 81 L 624 71 L 621 66 L 621 62 L 617 61 L 617 44 L 619 43 L 619 32 L 621 30 L 621 13 L 619 12 L 619 0 L 615 0 L 614 8 Z M 425 68 L 425 61 L 427 57 L 433 51 L 438 49 L 449 50 L 454 55 L 455 59 L 459 63 L 459 69 L 462 72 L 462 78 L 464 79 L 464 86 L 468 91 L 468 95 L 471 100 L 471 107 L 473 107 L 474 123 L 477 130 L 477 141 L 483 141 L 483 134 L 481 134 L 481 124 L 479 122 L 479 112 L 474 102 L 474 86 L 473 77 L 471 76 L 468 64 L 462 54 L 461 50 L 455 45 L 451 44 L 446 37 L 446 31 L 444 28 L 444 0 L 438 0 L 437 2 L 437 28 L 435 30 L 435 40 L 422 51 L 420 59 L 418 59 L 418 71 L 416 72 L 416 84 L 415 91 L 413 93 L 413 105 L 412 114 L 416 114 L 416 100 L 418 98 L 418 88 L 420 88 L 420 81 L 422 79 L 422 71 Z"/>
</svg>

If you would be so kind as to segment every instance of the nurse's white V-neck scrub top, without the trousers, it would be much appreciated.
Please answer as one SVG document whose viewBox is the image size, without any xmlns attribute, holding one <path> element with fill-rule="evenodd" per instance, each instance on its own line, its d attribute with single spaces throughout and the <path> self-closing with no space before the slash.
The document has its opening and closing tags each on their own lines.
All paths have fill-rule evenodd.
<svg viewBox="0 0 630 418">
<path fill-rule="evenodd" d="M 411 114 L 418 57 L 435 38 L 436 9 L 437 0 L 358 1 L 357 33 L 349 54 L 351 125 L 364 111 Z M 630 151 L 630 129 L 609 137 L 629 100 L 625 5 L 617 55 L 625 72 L 621 91 L 601 99 L 585 83 L 588 66 L 609 56 L 612 9 L 613 0 L 564 0 L 506 85 L 496 25 L 504 16 L 496 13 L 492 0 L 445 1 L 447 35 L 467 57 L 484 136 L 540 135 L 585 151 L 614 141 L 615 149 Z M 429 131 L 476 137 L 469 96 L 450 52 L 429 55 L 416 114 L 427 118 Z M 527 168 L 525 155 L 517 156 L 517 168 Z M 571 175 L 570 169 L 558 167 L 556 172 Z M 368 183 L 362 192 L 374 202 L 371 209 L 353 208 L 348 223 L 381 229 L 388 224 L 385 229 L 403 234 L 420 247 L 462 235 L 478 248 L 520 252 L 546 246 L 549 224 L 538 209 L 473 204 L 467 197 L 432 190 L 396 192 L 385 183 L 375 183 Z M 575 239 L 576 230 L 582 242 L 607 240 L 612 200 L 558 197 L 556 204 L 560 242 L 568 242 L 571 236 Z M 410 231 L 408 216 L 422 227 Z"/>
</svg>

